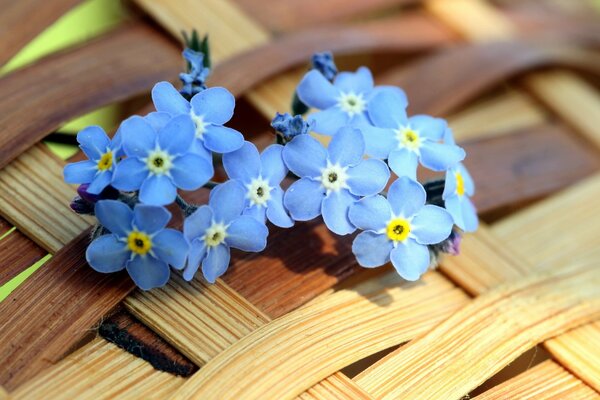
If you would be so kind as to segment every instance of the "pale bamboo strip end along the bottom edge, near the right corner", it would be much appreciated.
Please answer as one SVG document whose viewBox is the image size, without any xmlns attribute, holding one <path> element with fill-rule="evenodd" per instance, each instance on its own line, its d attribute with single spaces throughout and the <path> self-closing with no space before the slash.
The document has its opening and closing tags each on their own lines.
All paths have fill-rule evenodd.
<svg viewBox="0 0 600 400">
<path fill-rule="evenodd" d="M 474 400 L 591 400 L 600 395 L 565 371 L 559 364 L 548 360 L 530 370 L 499 384 Z"/>
</svg>

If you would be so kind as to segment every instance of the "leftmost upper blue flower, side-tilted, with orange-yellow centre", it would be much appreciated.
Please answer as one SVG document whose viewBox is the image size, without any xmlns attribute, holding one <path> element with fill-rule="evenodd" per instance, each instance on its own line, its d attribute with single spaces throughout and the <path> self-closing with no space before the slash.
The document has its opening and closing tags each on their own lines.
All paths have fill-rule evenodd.
<svg viewBox="0 0 600 400">
<path fill-rule="evenodd" d="M 119 141 L 111 141 L 99 126 L 90 126 L 77 134 L 77 142 L 88 160 L 67 164 L 65 182 L 88 183 L 88 193 L 100 194 L 112 180 L 120 156 Z"/>
</svg>

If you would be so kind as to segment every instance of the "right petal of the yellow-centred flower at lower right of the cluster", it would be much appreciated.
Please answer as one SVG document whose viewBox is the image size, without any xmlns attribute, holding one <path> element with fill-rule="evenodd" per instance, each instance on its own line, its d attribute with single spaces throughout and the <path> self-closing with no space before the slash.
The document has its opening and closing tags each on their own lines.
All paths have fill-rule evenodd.
<svg viewBox="0 0 600 400">
<path fill-rule="evenodd" d="M 453 225 L 448 211 L 442 207 L 426 205 L 413 218 L 410 234 L 420 244 L 437 244 L 448 239 Z"/>
</svg>

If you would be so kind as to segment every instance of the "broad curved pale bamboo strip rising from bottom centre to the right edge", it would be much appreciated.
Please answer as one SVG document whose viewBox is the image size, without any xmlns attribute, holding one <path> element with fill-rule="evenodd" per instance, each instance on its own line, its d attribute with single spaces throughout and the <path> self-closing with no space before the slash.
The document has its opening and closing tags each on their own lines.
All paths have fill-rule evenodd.
<svg viewBox="0 0 600 400">
<path fill-rule="evenodd" d="M 539 273 L 479 296 L 357 378 L 377 398 L 459 398 L 536 343 L 600 318 L 593 267 Z"/>
</svg>

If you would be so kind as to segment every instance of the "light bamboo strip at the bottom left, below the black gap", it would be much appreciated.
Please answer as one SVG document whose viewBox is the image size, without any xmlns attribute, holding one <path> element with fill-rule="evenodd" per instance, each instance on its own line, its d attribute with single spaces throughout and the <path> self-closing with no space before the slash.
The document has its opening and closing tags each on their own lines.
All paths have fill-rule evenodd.
<svg viewBox="0 0 600 400">
<path fill-rule="evenodd" d="M 184 381 L 97 338 L 11 395 L 15 399 L 164 399 Z"/>
</svg>

